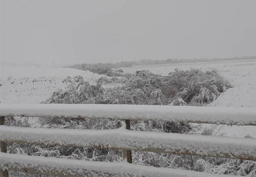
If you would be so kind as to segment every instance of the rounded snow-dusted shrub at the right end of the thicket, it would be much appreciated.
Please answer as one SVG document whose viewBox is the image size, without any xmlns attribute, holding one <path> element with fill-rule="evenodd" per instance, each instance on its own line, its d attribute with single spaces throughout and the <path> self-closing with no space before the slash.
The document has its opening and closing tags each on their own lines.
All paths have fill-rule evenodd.
<svg viewBox="0 0 256 177">
<path fill-rule="evenodd" d="M 221 77 L 216 70 L 203 72 L 199 69 L 191 69 L 190 71 L 176 69 L 169 75 L 183 83 L 177 96 L 191 105 L 201 106 L 210 103 L 231 87 L 230 83 Z"/>
</svg>

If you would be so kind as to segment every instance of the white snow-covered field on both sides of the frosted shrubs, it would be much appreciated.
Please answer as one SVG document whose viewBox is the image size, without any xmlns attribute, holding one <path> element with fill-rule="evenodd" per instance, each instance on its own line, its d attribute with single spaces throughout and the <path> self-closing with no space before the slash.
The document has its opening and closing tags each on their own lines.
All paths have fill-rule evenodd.
<svg viewBox="0 0 256 177">
<path fill-rule="evenodd" d="M 135 73 L 137 70 L 150 70 L 152 73 L 168 75 L 176 68 L 180 70 L 193 68 L 203 71 L 216 69 L 220 75 L 232 83 L 232 88 L 228 89 L 208 106 L 256 107 L 256 59 L 135 66 L 123 68 L 123 71 Z M 75 75 L 82 75 L 89 83 L 95 83 L 102 76 L 90 71 L 69 68 L 1 67 L 0 102 L 40 103 L 49 98 L 53 92 L 65 87 L 65 83 L 62 83 L 63 79 L 67 76 Z M 256 138 L 256 127 L 201 125 L 198 131 L 203 131 L 206 127 L 213 129 L 214 135 Z"/>
</svg>

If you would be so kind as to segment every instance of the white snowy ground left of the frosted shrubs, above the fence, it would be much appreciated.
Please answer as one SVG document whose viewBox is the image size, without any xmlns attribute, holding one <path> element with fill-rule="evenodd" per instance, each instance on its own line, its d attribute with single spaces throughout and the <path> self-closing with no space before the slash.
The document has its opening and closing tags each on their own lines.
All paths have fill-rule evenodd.
<svg viewBox="0 0 256 177">
<path fill-rule="evenodd" d="M 102 75 L 71 68 L 51 67 L 0 67 L 1 103 L 40 103 L 53 92 L 63 89 L 67 76 L 82 75 L 85 81 L 95 84 Z"/>
</svg>

